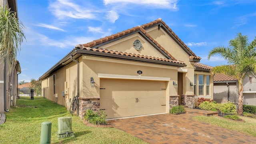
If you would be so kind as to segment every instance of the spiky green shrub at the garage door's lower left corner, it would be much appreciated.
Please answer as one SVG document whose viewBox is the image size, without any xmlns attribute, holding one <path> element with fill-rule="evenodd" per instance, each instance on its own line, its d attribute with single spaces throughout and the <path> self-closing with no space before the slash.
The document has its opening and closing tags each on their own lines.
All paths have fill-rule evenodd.
<svg viewBox="0 0 256 144">
<path fill-rule="evenodd" d="M 102 110 L 94 112 L 88 109 L 86 110 L 84 119 L 87 120 L 90 124 L 106 125 L 106 116 L 106 112 L 103 112 Z"/>
</svg>

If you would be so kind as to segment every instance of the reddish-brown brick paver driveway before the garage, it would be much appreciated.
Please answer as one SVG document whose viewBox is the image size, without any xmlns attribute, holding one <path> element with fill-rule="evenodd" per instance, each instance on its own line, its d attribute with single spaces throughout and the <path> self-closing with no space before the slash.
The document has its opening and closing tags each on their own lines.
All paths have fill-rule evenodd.
<svg viewBox="0 0 256 144">
<path fill-rule="evenodd" d="M 158 114 L 108 123 L 151 144 L 256 144 L 255 137 L 199 122 L 192 116 Z"/>
</svg>

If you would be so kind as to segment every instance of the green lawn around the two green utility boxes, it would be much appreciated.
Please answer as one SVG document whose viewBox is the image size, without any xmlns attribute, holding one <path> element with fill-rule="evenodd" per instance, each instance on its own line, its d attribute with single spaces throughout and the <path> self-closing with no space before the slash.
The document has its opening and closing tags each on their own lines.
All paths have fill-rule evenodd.
<svg viewBox="0 0 256 144">
<path fill-rule="evenodd" d="M 51 144 L 146 144 L 146 142 L 116 128 L 85 126 L 78 116 L 47 99 L 17 100 L 0 125 L 0 144 L 39 144 L 42 122 L 52 122 Z M 74 138 L 59 139 L 58 118 L 72 118 Z"/>
</svg>

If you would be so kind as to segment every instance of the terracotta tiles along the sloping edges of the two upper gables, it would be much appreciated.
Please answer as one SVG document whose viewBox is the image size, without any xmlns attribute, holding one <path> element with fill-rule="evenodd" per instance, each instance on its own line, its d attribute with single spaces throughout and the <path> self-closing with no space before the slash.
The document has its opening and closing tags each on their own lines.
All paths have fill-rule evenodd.
<svg viewBox="0 0 256 144">
<path fill-rule="evenodd" d="M 147 36 L 152 42 L 154 42 L 154 44 L 156 44 L 156 46 L 158 46 L 162 51 L 164 51 L 172 60 L 178 61 L 176 58 L 174 58 L 168 51 L 166 51 L 156 40 L 154 40 L 154 38 L 152 38 L 147 32 L 146 30 L 144 30 L 144 28 L 148 28 L 150 26 L 153 26 L 154 24 L 157 23 L 162 23 L 164 24 L 164 26 L 166 26 L 166 28 L 168 28 L 168 30 L 170 30 L 170 32 L 174 35 L 175 38 L 177 38 L 177 40 L 193 55 L 190 58 L 193 59 L 201 59 L 199 56 L 196 56 L 196 54 L 194 54 L 194 52 L 192 52 L 192 50 L 190 50 L 188 48 L 188 46 L 186 46 L 186 44 L 184 44 L 184 42 L 182 42 L 182 40 L 180 40 L 180 38 L 172 31 L 172 29 L 170 29 L 165 22 L 162 21 L 161 18 L 158 18 L 157 20 L 154 20 L 153 22 L 149 22 L 147 24 L 143 24 L 141 26 L 136 26 L 133 28 L 130 28 L 128 30 L 124 30 L 122 32 L 118 32 L 116 34 L 112 34 L 111 36 L 106 36 L 104 38 L 100 38 L 98 40 L 94 40 L 92 42 L 88 42 L 86 44 L 82 44 L 82 46 L 84 47 L 88 47 L 88 48 L 92 48 L 93 46 L 96 46 L 98 44 L 102 44 L 104 42 L 107 42 L 109 40 L 113 40 L 115 38 L 118 38 L 120 36 L 124 36 L 126 34 L 130 34 L 131 32 L 135 32 L 137 30 L 140 30 L 143 34 L 145 34 L 145 36 Z M 78 46 L 78 45 L 77 45 Z M 79 45 L 80 46 L 80 45 Z M 76 47 L 77 48 L 77 47 Z"/>
</svg>

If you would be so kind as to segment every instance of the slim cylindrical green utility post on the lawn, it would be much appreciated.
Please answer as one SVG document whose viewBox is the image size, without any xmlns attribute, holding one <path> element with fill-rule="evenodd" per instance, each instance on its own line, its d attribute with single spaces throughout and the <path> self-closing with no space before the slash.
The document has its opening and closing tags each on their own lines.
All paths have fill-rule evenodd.
<svg viewBox="0 0 256 144">
<path fill-rule="evenodd" d="M 50 144 L 52 134 L 52 122 L 42 122 L 40 144 Z"/>
</svg>

